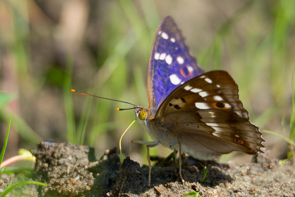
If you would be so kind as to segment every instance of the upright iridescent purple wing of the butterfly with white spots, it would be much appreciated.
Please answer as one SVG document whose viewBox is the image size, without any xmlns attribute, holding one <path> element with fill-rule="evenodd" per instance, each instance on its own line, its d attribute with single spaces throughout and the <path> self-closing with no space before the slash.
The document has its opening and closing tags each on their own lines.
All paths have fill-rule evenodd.
<svg viewBox="0 0 295 197">
<path fill-rule="evenodd" d="M 148 108 L 154 115 L 180 84 L 204 73 L 171 16 L 163 19 L 154 37 L 148 66 Z"/>
</svg>

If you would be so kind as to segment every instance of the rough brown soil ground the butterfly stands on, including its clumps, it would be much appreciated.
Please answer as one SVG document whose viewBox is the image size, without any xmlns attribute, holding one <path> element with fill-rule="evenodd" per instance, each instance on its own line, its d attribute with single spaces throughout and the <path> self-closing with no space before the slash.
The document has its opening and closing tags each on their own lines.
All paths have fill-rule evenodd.
<svg viewBox="0 0 295 197">
<path fill-rule="evenodd" d="M 129 158 L 120 164 L 116 149 L 106 150 L 98 161 L 92 148 L 70 143 L 42 141 L 33 152 L 37 159 L 32 179 L 49 186 L 22 188 L 31 197 L 181 197 L 191 191 L 202 197 L 295 197 L 294 162 L 278 164 L 267 153 L 254 156 L 250 164 L 203 162 L 208 167 L 204 181 L 204 168 L 188 158 L 182 166 L 184 184 L 175 161 L 161 161 L 153 167 L 148 187 L 148 167 Z M 10 180 L 24 178 L 2 174 L 0 194 Z"/>
</svg>

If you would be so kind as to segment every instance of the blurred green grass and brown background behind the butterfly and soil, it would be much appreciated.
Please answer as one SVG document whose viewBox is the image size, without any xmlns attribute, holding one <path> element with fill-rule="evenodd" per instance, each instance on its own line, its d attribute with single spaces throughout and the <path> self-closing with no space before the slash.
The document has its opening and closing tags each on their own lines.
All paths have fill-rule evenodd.
<svg viewBox="0 0 295 197">
<path fill-rule="evenodd" d="M 13 115 L 5 158 L 40 140 L 94 146 L 98 158 L 118 147 L 134 112 L 116 108 L 130 106 L 70 89 L 147 107 L 148 58 L 167 15 L 205 70 L 236 80 L 252 123 L 290 136 L 294 0 L 0 0 L 0 147 Z M 286 157 L 285 141 L 264 138 L 272 154 Z M 131 139 L 149 138 L 135 124 L 124 153 Z M 145 145 L 134 144 L 131 158 L 146 162 Z"/>
</svg>

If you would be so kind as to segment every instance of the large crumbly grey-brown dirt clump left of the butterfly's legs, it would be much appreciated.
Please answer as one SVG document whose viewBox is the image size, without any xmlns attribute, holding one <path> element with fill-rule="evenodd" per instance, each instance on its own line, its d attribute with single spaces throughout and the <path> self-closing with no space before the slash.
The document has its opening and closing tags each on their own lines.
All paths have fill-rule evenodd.
<svg viewBox="0 0 295 197">
<path fill-rule="evenodd" d="M 106 193 L 108 178 L 120 168 L 116 149 L 107 150 L 96 161 L 89 146 L 42 141 L 33 154 L 36 181 L 49 184 L 42 188 L 41 196 L 90 197 Z"/>
</svg>

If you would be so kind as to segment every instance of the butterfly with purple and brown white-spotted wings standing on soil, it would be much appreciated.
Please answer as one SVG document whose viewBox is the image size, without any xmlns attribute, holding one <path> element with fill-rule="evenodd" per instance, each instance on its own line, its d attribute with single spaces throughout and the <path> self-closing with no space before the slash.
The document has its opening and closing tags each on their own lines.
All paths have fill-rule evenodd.
<svg viewBox="0 0 295 197">
<path fill-rule="evenodd" d="M 255 154 L 264 147 L 261 131 L 238 99 L 236 82 L 226 71 L 202 69 L 171 16 L 163 19 L 154 37 L 148 108 L 136 107 L 135 114 L 154 141 L 147 148 L 179 146 L 179 155 L 182 151 L 214 160 L 232 151 Z M 182 179 L 181 166 L 179 174 Z"/>
</svg>

